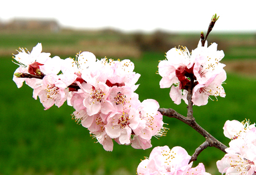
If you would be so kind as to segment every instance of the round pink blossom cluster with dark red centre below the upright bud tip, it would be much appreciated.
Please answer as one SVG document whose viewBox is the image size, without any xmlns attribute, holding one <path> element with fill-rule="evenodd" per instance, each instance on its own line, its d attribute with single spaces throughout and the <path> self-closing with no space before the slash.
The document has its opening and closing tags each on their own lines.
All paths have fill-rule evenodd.
<svg viewBox="0 0 256 175">
<path fill-rule="evenodd" d="M 207 45 L 207 42 L 205 42 Z M 192 102 L 206 105 L 209 95 L 225 97 L 222 83 L 226 80 L 224 64 L 220 63 L 224 57 L 223 51 L 217 51 L 217 44 L 209 47 L 201 46 L 189 53 L 186 47 L 172 48 L 166 53 L 166 60 L 160 61 L 158 72 L 162 76 L 161 88 L 171 87 L 170 97 L 179 105 L 181 99 L 188 103 L 188 89 L 192 81 Z"/>
</svg>

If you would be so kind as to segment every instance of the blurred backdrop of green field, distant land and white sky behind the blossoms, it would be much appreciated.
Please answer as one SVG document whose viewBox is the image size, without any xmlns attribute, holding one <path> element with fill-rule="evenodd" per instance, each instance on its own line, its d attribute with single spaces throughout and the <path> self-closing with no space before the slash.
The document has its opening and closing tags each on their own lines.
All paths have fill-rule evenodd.
<svg viewBox="0 0 256 175">
<path fill-rule="evenodd" d="M 160 89 L 156 74 L 165 52 L 179 45 L 189 51 L 197 47 L 200 32 L 207 33 L 217 13 L 208 43 L 216 42 L 225 53 L 225 98 L 193 108 L 205 130 L 228 145 L 223 135 L 226 120 L 256 122 L 256 26 L 253 1 L 5 1 L 0 11 L 0 174 L 136 174 L 152 148 L 181 146 L 189 155 L 204 138 L 179 120 L 163 117 L 167 136 L 152 138 L 145 151 L 114 144 L 106 152 L 94 143 L 89 131 L 71 119 L 74 109 L 63 105 L 44 111 L 32 98 L 32 89 L 18 89 L 13 82 L 17 65 L 12 53 L 28 51 L 42 43 L 43 52 L 62 59 L 90 51 L 98 59 L 130 59 L 141 74 L 139 99 L 156 99 L 160 107 L 186 115 L 185 103 L 175 105 L 170 89 Z M 150 70 L 150 71 L 148 71 Z M 216 161 L 224 156 L 216 148 L 205 149 L 193 164 L 218 173 Z"/>
</svg>

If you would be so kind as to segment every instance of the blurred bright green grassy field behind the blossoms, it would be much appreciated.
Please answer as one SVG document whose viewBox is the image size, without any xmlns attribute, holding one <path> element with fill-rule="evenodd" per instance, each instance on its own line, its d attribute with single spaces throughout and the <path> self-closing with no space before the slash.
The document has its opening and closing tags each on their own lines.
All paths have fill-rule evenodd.
<svg viewBox="0 0 256 175">
<path fill-rule="evenodd" d="M 32 89 L 26 85 L 18 89 L 13 82 L 13 73 L 17 65 L 11 62 L 11 53 L 15 53 L 18 47 L 27 47 L 31 51 L 38 42 L 51 49 L 51 46 L 59 45 L 61 48 L 68 48 L 77 45 L 76 40 L 81 38 L 90 40 L 91 38 L 100 40 L 110 40 L 114 42 L 119 36 L 108 35 L 84 35 L 84 34 L 1 34 L 0 33 L 0 174 L 135 174 L 138 164 L 144 156 L 148 157 L 152 148 L 156 146 L 168 145 L 170 148 L 177 145 L 185 148 L 189 155 L 201 143 L 203 136 L 199 135 L 189 126 L 177 119 L 164 116 L 166 127 L 170 128 L 167 136 L 160 139 L 152 138 L 153 147 L 145 151 L 134 149 L 130 145 L 114 144 L 113 152 L 106 152 L 102 145 L 94 143 L 95 139 L 89 136 L 89 131 L 81 125 L 77 125 L 71 119 L 74 109 L 63 105 L 58 109 L 56 106 L 44 111 L 44 107 L 32 98 Z M 213 40 L 218 35 L 210 35 Z M 238 35 L 226 36 L 226 42 L 232 43 L 232 39 L 237 40 Z M 241 35 L 239 35 L 241 36 Z M 91 37 L 91 38 L 90 38 Z M 130 40 L 130 36 L 122 36 Z M 175 42 L 178 40 L 175 36 Z M 194 39 L 195 36 L 184 34 L 184 38 Z M 219 36 L 223 38 L 223 36 Z M 245 38 L 247 36 L 244 36 Z M 117 39 L 118 38 L 118 39 Z M 220 38 L 218 38 L 220 40 Z M 243 36 L 241 36 L 243 39 Z M 247 37 L 249 39 L 251 37 Z M 122 38 L 123 39 L 123 38 Z M 227 41 L 228 40 L 228 41 Z M 195 47 L 198 40 L 196 39 Z M 222 43 L 224 41 L 221 41 Z M 235 47 L 235 46 L 234 46 Z M 237 45 L 236 47 L 239 47 Z M 255 45 L 240 48 L 241 57 L 233 56 L 232 48 L 226 47 L 227 52 L 224 60 L 256 58 L 254 55 Z M 7 53 L 10 52 L 10 55 Z M 85 50 L 78 48 L 76 52 Z M 243 57 L 243 53 L 249 56 Z M 63 59 L 74 57 L 73 55 L 60 55 Z M 237 52 L 237 51 L 236 51 Z M 67 53 L 67 52 L 65 52 Z M 52 54 L 54 56 L 55 53 Z M 100 57 L 99 57 L 100 58 Z M 115 57 L 113 57 L 115 58 Z M 133 58 L 127 56 L 135 64 L 135 72 L 141 74 L 138 81 L 139 87 L 135 91 L 139 94 L 139 99 L 156 99 L 160 107 L 175 109 L 180 114 L 186 115 L 185 103 L 175 105 L 170 97 L 170 89 L 160 89 L 160 76 L 156 74 L 158 70 L 158 60 L 164 59 L 164 52 L 141 52 L 141 57 Z M 117 59 L 117 58 L 115 58 Z M 228 63 L 226 63 L 228 64 Z M 208 105 L 193 107 L 194 116 L 205 130 L 215 136 L 222 143 L 228 145 L 229 139 L 223 135 L 222 127 L 226 120 L 239 120 L 245 118 L 251 122 L 256 122 L 256 79 L 240 74 L 227 74 L 226 84 L 223 85 L 226 91 L 225 98 L 218 98 L 218 101 L 210 101 Z M 194 163 L 203 162 L 206 170 L 212 174 L 220 174 L 217 171 L 216 161 L 224 156 L 216 148 L 205 149 Z"/>
</svg>

